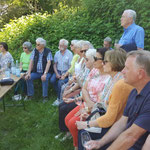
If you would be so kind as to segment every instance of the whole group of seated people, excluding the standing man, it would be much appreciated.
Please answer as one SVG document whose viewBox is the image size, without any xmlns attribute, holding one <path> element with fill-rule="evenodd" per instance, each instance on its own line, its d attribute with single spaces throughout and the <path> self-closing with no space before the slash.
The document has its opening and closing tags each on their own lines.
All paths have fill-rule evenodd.
<svg viewBox="0 0 150 150">
<path fill-rule="evenodd" d="M 144 88 L 150 81 L 150 73 L 147 71 L 149 70 L 147 65 L 150 63 L 148 60 L 150 52 L 138 50 L 126 53 L 122 48 L 112 49 L 110 43 L 107 42 L 111 42 L 109 37 L 104 39 L 103 48 L 94 49 L 89 41 L 72 40 L 70 48 L 73 55 L 67 49 L 68 41 L 61 39 L 59 51 L 55 53 L 54 60 L 52 52 L 46 48 L 46 41 L 43 38 L 36 39 L 36 48 L 33 51 L 30 42 L 23 43 L 24 52 L 21 54 L 20 62 L 22 71 L 26 72 L 24 79 L 27 85 L 27 99 L 34 96 L 33 80 L 42 80 L 44 103 L 48 101 L 49 82 L 53 85 L 57 92 L 57 100 L 53 105 L 59 108 L 59 128 L 60 131 L 66 132 L 62 140 L 66 140 L 71 135 L 75 150 L 84 150 L 85 148 L 89 150 L 138 150 L 142 149 L 148 136 L 146 131 L 149 132 L 149 127 L 144 123 L 148 123 L 145 120 L 149 116 L 146 110 L 140 114 L 141 107 L 148 102 L 144 101 L 144 104 L 140 104 L 142 105 L 140 108 L 134 108 L 135 111 L 137 110 L 137 116 L 144 118 L 144 120 L 141 119 L 143 122 L 141 120 L 136 122 L 138 117 L 133 118 L 135 112 L 130 111 L 132 107 L 137 106 L 134 103 L 136 98 L 140 94 L 148 93 L 144 92 Z M 0 43 L 0 50 L 1 66 L 4 57 L 5 59 L 9 57 L 8 60 L 13 61 L 11 54 L 7 52 L 6 43 Z M 129 102 L 128 99 L 132 98 L 134 101 Z M 96 113 L 89 118 L 98 106 L 103 108 L 104 114 L 96 115 Z M 136 131 L 137 127 L 131 130 L 133 125 L 144 128 L 145 132 L 142 129 Z M 123 145 L 125 142 L 121 145 L 121 142 L 127 139 L 122 139 L 119 135 L 129 129 L 135 133 L 139 132 L 135 135 L 129 134 L 129 137 L 133 138 L 131 144 L 127 141 L 126 146 Z M 92 141 L 87 142 L 84 147 L 82 135 L 85 132 L 90 135 Z M 138 134 L 140 135 L 137 136 Z M 59 138 L 60 135 L 55 138 Z M 149 139 L 147 138 L 143 150 L 148 150 Z M 117 142 L 113 144 L 115 143 L 113 141 L 120 142 L 120 145 Z"/>
</svg>

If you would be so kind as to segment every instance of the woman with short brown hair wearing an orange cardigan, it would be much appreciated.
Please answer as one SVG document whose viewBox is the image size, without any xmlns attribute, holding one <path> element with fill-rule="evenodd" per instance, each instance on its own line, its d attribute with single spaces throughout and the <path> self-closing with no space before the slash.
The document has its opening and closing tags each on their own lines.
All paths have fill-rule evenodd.
<svg viewBox="0 0 150 150">
<path fill-rule="evenodd" d="M 111 50 L 107 51 L 104 59 L 104 71 L 108 73 L 111 78 L 111 84 L 107 84 L 105 88 L 107 88 L 107 92 L 111 91 L 111 95 L 109 97 L 109 101 L 107 101 L 108 96 L 105 91 L 104 96 L 106 96 L 102 100 L 102 95 L 100 96 L 101 102 L 105 105 L 104 107 L 107 109 L 106 113 L 103 116 L 100 116 L 96 120 L 91 121 L 77 121 L 78 129 L 86 129 L 89 131 L 92 139 L 101 138 L 109 128 L 121 117 L 123 110 L 125 108 L 128 95 L 130 94 L 133 87 L 126 84 L 124 80 L 120 79 L 120 71 L 124 68 L 124 63 L 126 60 L 126 53 L 124 50 Z M 119 81 L 118 81 L 119 80 Z M 104 89 L 106 90 L 106 89 Z M 107 106 L 108 104 L 108 106 Z M 101 132 L 93 132 L 90 130 L 91 127 L 99 127 L 99 131 Z M 102 129 L 101 129 L 102 128 Z M 78 133 L 78 148 L 79 150 L 84 149 L 81 144 L 81 133 L 84 130 L 81 130 Z"/>
</svg>

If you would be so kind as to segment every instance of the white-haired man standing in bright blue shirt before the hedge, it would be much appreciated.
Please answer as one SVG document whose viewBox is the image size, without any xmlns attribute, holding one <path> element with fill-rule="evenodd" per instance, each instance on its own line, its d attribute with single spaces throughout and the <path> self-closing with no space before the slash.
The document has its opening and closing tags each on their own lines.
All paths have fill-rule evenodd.
<svg viewBox="0 0 150 150">
<path fill-rule="evenodd" d="M 121 47 L 127 52 L 131 50 L 144 49 L 144 29 L 135 24 L 136 12 L 134 10 L 125 10 L 121 17 L 121 26 L 124 33 L 116 47 Z"/>
</svg>

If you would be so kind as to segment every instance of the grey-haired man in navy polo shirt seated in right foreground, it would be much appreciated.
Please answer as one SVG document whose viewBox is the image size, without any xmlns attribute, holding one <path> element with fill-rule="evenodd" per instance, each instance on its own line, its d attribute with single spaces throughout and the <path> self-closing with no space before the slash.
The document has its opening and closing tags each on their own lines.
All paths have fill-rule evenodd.
<svg viewBox="0 0 150 150">
<path fill-rule="evenodd" d="M 90 141 L 89 149 L 140 150 L 150 132 L 150 52 L 131 51 L 122 73 L 126 83 L 135 87 L 128 97 L 123 116 L 98 141 Z"/>
</svg>

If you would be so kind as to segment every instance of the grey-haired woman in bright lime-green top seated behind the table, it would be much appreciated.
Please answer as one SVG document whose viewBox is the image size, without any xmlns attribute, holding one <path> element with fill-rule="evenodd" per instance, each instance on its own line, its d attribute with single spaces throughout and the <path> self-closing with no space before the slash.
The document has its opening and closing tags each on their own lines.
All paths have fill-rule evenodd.
<svg viewBox="0 0 150 150">
<path fill-rule="evenodd" d="M 24 52 L 20 56 L 20 66 L 21 66 L 21 72 L 26 73 L 28 71 L 28 68 L 29 68 L 30 56 L 31 56 L 31 51 L 32 51 L 32 44 L 30 42 L 24 42 L 22 47 L 23 47 Z M 14 100 L 21 99 L 21 95 L 18 94 L 19 87 L 21 87 L 21 89 L 22 89 L 22 91 L 24 91 L 25 95 L 27 94 L 26 82 L 24 79 L 22 79 L 16 85 L 15 95 L 12 97 Z"/>
</svg>

